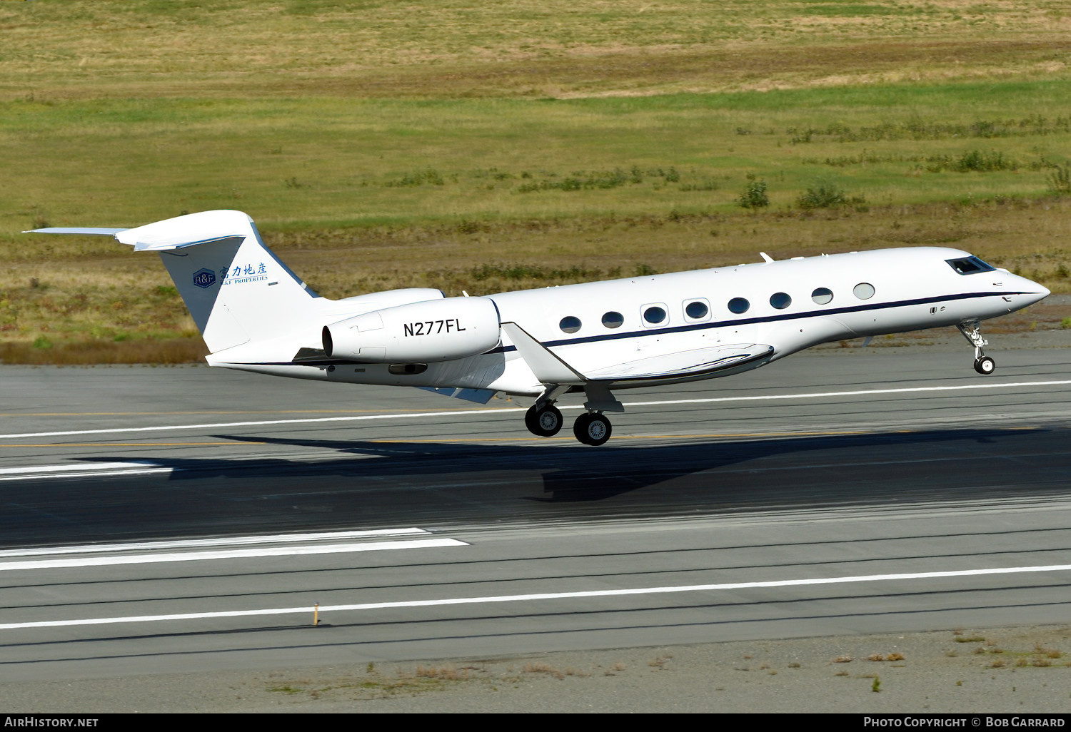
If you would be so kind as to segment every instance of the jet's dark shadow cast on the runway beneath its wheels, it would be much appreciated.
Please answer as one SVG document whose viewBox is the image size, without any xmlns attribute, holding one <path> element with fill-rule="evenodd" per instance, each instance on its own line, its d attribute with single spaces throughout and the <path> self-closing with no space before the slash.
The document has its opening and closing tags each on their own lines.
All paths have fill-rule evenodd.
<svg viewBox="0 0 1071 732">
<path fill-rule="evenodd" d="M 744 442 L 690 442 L 676 445 L 622 445 L 613 449 L 593 449 L 582 445 L 486 445 L 426 442 L 367 442 L 310 440 L 253 436 L 213 436 L 218 439 L 256 441 L 267 444 L 313 447 L 338 456 L 320 461 L 265 459 L 153 459 L 174 469 L 171 481 L 206 477 L 257 476 L 297 479 L 364 478 L 413 486 L 447 489 L 450 476 L 464 475 L 488 491 L 500 490 L 521 475 L 539 476 L 542 494 L 526 491 L 521 498 L 543 502 L 602 501 L 652 486 L 680 483 L 680 478 L 700 476 L 703 492 L 713 503 L 727 497 L 726 491 L 742 489 L 756 502 L 764 493 L 796 493 L 814 481 L 800 473 L 818 474 L 818 485 L 830 498 L 846 491 L 859 498 L 861 484 L 880 485 L 884 490 L 900 492 L 920 484 L 953 490 L 978 487 L 981 475 L 972 463 L 986 454 L 1007 458 L 1001 443 L 1023 442 L 1036 452 L 1039 443 L 1059 445 L 1065 436 L 1054 437 L 1052 429 L 941 429 L 849 436 L 774 438 Z M 962 448 L 949 443 L 964 443 Z M 1066 442 L 1065 442 L 1066 444 Z M 375 458 L 375 459 L 367 459 Z M 774 459 L 771 459 L 774 458 Z M 122 457 L 102 457 L 122 462 Z M 1006 460 L 1007 461 L 1007 460 Z M 1022 463 L 1015 473 L 1022 472 Z M 991 468 L 986 476 L 992 478 Z M 525 478 L 530 485 L 531 478 Z M 688 483 L 688 482 L 685 482 Z M 695 482 L 691 482 L 695 483 Z M 441 486 L 439 484 L 442 484 Z M 310 485 L 315 486 L 315 483 Z M 670 486 L 672 487 L 672 486 Z M 930 498 L 933 498 L 932 490 Z M 737 497 L 740 498 L 740 497 Z M 734 501 L 735 502 L 735 501 Z"/>
</svg>

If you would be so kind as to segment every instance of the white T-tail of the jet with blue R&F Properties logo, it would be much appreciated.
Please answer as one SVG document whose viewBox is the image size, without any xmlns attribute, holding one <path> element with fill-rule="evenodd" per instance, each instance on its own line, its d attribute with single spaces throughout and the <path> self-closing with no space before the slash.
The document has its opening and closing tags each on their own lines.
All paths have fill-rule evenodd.
<svg viewBox="0 0 1071 732">
<path fill-rule="evenodd" d="M 205 211 L 134 229 L 47 228 L 105 234 L 135 251 L 159 251 L 213 354 L 308 329 L 319 295 L 265 246 L 241 211 Z"/>
</svg>

